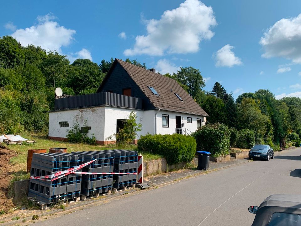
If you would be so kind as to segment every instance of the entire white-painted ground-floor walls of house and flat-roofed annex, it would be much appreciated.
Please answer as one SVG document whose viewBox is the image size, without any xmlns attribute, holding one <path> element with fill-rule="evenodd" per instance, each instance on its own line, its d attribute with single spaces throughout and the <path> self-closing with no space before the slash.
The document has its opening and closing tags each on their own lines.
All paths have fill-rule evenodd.
<svg viewBox="0 0 301 226">
<path fill-rule="evenodd" d="M 79 126 L 84 126 L 84 121 L 87 120 L 87 126 L 91 126 L 88 136 L 92 133 L 98 141 L 109 141 L 111 135 L 116 133 L 117 119 L 128 119 L 129 113 L 132 109 L 124 109 L 117 107 L 92 107 L 74 110 L 62 110 L 49 113 L 49 137 L 63 137 L 67 135 L 67 130 L 70 129 L 76 122 Z M 176 132 L 176 116 L 181 116 L 182 123 L 191 132 L 197 130 L 197 118 L 202 119 L 203 116 L 189 115 L 184 113 L 164 111 L 164 110 L 134 110 L 137 116 L 137 123 L 142 124 L 141 131 L 138 132 L 137 139 L 141 135 L 147 133 L 154 134 L 173 134 Z M 155 128 L 155 114 L 157 113 L 156 128 Z M 162 126 L 162 114 L 169 115 L 169 127 Z M 187 123 L 187 117 L 192 118 L 192 123 Z M 69 127 L 60 127 L 60 121 L 67 121 Z"/>
</svg>

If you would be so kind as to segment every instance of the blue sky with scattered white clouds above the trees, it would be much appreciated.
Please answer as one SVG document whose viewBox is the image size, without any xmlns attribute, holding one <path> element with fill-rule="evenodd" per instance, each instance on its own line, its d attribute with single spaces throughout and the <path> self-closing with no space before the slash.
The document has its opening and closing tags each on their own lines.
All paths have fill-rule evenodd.
<svg viewBox="0 0 301 226">
<path fill-rule="evenodd" d="M 5 1 L 0 35 L 161 73 L 196 67 L 205 90 L 301 97 L 301 1 Z M 299 15 L 300 14 L 300 15 Z"/>
</svg>

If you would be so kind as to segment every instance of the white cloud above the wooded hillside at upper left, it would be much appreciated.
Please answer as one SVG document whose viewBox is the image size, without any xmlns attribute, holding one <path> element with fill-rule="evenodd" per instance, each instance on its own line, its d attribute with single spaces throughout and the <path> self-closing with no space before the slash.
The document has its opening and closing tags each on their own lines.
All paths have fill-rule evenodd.
<svg viewBox="0 0 301 226">
<path fill-rule="evenodd" d="M 62 53 L 61 47 L 68 46 L 73 40 L 75 30 L 67 29 L 53 21 L 55 16 L 47 14 L 38 16 L 38 24 L 25 29 L 16 30 L 12 36 L 21 42 L 22 46 L 33 44 L 45 50 L 57 50 Z"/>
</svg>

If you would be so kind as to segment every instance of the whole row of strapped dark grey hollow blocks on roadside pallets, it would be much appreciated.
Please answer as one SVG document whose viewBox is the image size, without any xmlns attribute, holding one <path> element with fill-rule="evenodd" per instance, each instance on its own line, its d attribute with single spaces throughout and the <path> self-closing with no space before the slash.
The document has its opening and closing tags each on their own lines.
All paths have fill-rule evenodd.
<svg viewBox="0 0 301 226">
<path fill-rule="evenodd" d="M 71 153 L 34 153 L 30 175 L 45 176 L 95 160 L 78 172 L 136 173 L 138 153 L 128 150 L 83 151 Z M 109 190 L 133 186 L 137 175 L 131 174 L 69 174 L 60 179 L 30 179 L 29 197 L 55 203 L 83 196 L 94 196 Z M 113 184 L 114 181 L 114 184 Z"/>
</svg>

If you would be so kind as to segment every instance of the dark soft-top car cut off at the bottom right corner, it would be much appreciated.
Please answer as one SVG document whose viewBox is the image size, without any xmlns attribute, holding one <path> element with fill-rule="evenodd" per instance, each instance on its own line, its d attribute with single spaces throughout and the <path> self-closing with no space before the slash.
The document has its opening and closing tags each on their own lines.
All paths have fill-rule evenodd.
<svg viewBox="0 0 301 226">
<path fill-rule="evenodd" d="M 256 214 L 252 226 L 300 226 L 301 195 L 271 195 L 249 211 Z"/>
</svg>

